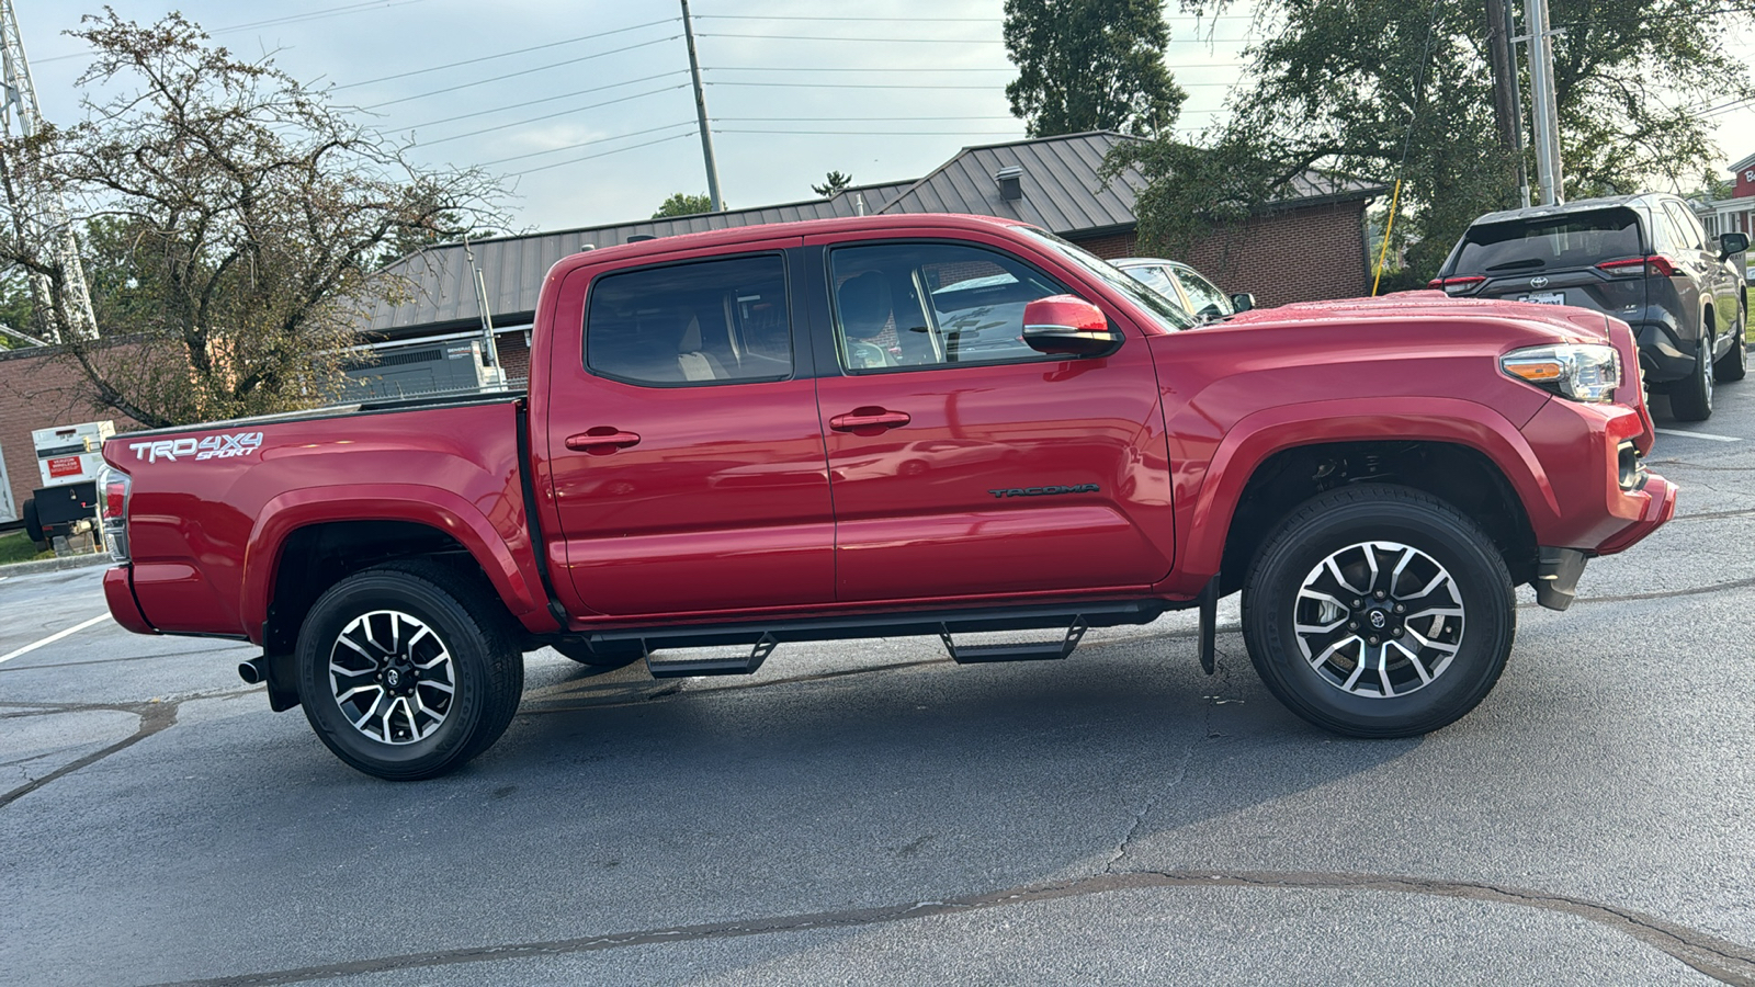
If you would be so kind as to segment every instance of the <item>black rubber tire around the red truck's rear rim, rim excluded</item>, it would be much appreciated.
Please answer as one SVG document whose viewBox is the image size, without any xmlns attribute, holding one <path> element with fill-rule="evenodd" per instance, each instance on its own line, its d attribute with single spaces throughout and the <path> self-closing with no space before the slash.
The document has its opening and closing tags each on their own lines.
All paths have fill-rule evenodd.
<svg viewBox="0 0 1755 987">
<path fill-rule="evenodd" d="M 330 688 L 330 650 L 356 616 L 397 609 L 423 622 L 451 653 L 455 692 L 439 729 L 419 741 L 390 745 L 362 734 L 342 713 Z M 353 767 L 379 778 L 425 778 L 470 753 L 470 738 L 484 718 L 488 697 L 486 646 L 463 608 L 423 580 L 402 573 L 360 573 L 330 588 L 311 608 L 298 634 L 298 699 L 318 738 Z"/>
</svg>

